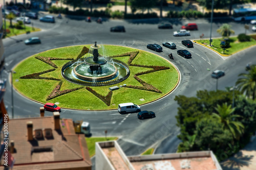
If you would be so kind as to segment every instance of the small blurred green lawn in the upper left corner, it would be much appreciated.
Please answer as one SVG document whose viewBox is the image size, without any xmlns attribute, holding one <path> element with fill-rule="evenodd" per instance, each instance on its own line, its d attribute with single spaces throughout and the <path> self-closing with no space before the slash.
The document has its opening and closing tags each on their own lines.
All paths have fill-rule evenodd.
<svg viewBox="0 0 256 170">
<path fill-rule="evenodd" d="M 4 23 L 4 21 L 3 21 Z M 12 21 L 12 25 L 15 25 L 15 22 Z M 26 27 L 26 29 L 25 29 Z M 23 25 L 22 29 L 15 29 L 15 28 L 10 28 L 10 21 L 6 20 L 6 29 L 10 30 L 10 33 L 6 35 L 6 37 L 12 37 L 16 36 L 19 34 L 26 34 L 27 32 L 35 32 L 35 31 L 41 31 L 39 28 L 32 28 L 31 23 L 30 24 L 25 24 L 25 27 Z M 4 26 L 3 26 L 4 28 Z"/>
</svg>

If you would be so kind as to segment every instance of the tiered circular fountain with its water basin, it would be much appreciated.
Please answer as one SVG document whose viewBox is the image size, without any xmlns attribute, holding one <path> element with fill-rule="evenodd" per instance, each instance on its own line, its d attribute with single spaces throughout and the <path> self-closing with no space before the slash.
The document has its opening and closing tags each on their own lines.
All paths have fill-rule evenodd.
<svg viewBox="0 0 256 170">
<path fill-rule="evenodd" d="M 86 86 L 104 86 L 119 83 L 130 75 L 129 67 L 116 59 L 100 56 L 100 45 L 91 45 L 93 56 L 66 63 L 61 75 L 66 80 Z"/>
</svg>

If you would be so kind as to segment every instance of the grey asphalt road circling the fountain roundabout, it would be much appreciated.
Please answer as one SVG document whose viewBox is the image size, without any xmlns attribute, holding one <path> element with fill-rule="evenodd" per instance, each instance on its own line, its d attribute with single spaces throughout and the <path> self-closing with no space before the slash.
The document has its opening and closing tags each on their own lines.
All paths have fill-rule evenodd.
<svg viewBox="0 0 256 170">
<path fill-rule="evenodd" d="M 42 15 L 42 14 L 40 14 Z M 176 152 L 179 140 L 177 134 L 179 128 L 176 127 L 177 103 L 174 101 L 176 95 L 195 96 L 200 89 L 215 90 L 216 80 L 210 78 L 211 70 L 222 69 L 225 77 L 218 81 L 218 88 L 225 89 L 226 86 L 233 86 L 237 76 L 245 71 L 247 63 L 256 63 L 254 57 L 255 50 L 250 48 L 238 55 L 229 58 L 220 57 L 214 52 L 198 44 L 193 48 L 187 48 L 181 44 L 185 39 L 199 39 L 203 33 L 205 39 L 209 39 L 210 25 L 208 19 L 170 20 L 173 30 L 159 30 L 157 25 L 162 20 L 104 20 L 102 24 L 96 22 L 85 22 L 84 18 L 62 18 L 56 19 L 56 23 L 44 23 L 32 20 L 34 27 L 41 28 L 41 32 L 10 37 L 4 40 L 6 70 L 12 69 L 20 61 L 39 52 L 51 50 L 52 48 L 93 44 L 114 44 L 127 47 L 134 47 L 157 54 L 172 63 L 180 71 L 181 80 L 179 86 L 169 95 L 151 104 L 141 106 L 142 110 L 151 110 L 156 113 L 156 118 L 139 120 L 136 113 L 121 115 L 117 110 L 111 111 L 75 111 L 62 109 L 61 118 L 83 119 L 91 124 L 92 136 L 104 136 L 104 131 L 108 130 L 108 136 L 119 136 L 118 143 L 126 155 L 138 155 L 148 147 L 156 147 L 155 153 Z M 169 21 L 169 20 L 168 20 Z M 188 22 L 196 22 L 198 31 L 191 31 L 191 36 L 174 37 L 173 32 L 181 25 Z M 244 23 L 232 22 L 227 19 L 215 20 L 212 24 L 212 37 L 219 37 L 216 30 L 222 23 L 228 22 L 232 29 L 239 33 L 244 33 Z M 110 28 L 117 25 L 125 27 L 125 33 L 111 33 Z M 252 33 L 250 30 L 247 33 Z M 41 44 L 25 45 L 24 40 L 32 36 L 38 36 Z M 158 53 L 146 48 L 148 43 L 162 44 L 166 41 L 173 41 L 177 44 L 176 50 L 163 47 L 163 51 Z M 186 49 L 192 54 L 191 59 L 184 59 L 177 55 L 177 50 Z M 172 52 L 174 60 L 167 56 Z M 9 78 L 9 73 L 4 71 L 2 77 Z M 11 115 L 11 88 L 8 81 L 4 102 L 8 105 L 8 112 Z M 42 104 L 33 102 L 18 92 L 14 91 L 14 117 L 35 117 L 39 116 L 39 107 Z M 46 112 L 46 116 L 52 112 Z M 11 117 L 11 116 L 10 116 Z"/>
</svg>

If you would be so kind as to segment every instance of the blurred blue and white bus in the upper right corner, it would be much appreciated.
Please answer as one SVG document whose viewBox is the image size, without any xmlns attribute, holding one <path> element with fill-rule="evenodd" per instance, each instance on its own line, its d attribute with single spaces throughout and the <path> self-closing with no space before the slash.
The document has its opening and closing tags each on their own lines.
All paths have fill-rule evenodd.
<svg viewBox="0 0 256 170">
<path fill-rule="evenodd" d="M 256 8 L 234 9 L 232 18 L 235 21 L 256 19 Z"/>
</svg>

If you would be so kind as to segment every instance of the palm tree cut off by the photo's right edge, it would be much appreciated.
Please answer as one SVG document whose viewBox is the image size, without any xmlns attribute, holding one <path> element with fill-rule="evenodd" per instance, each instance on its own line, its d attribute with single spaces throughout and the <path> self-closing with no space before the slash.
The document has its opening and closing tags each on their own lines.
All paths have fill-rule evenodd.
<svg viewBox="0 0 256 170">
<path fill-rule="evenodd" d="M 239 90 L 248 98 L 255 100 L 256 98 L 256 65 L 251 65 L 248 70 L 248 74 L 242 73 L 239 76 L 243 78 L 238 79 L 236 85 L 238 85 Z"/>
</svg>

